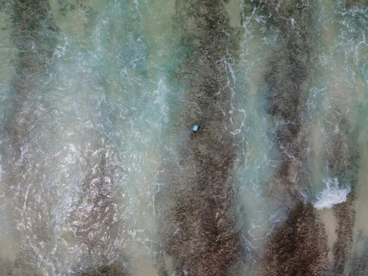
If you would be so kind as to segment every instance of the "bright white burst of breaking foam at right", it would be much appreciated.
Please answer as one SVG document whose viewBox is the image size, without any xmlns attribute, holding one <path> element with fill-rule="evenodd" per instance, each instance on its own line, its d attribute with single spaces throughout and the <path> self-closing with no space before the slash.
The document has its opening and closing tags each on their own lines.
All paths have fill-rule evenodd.
<svg viewBox="0 0 368 276">
<path fill-rule="evenodd" d="M 339 180 L 328 178 L 323 181 L 326 188 L 319 192 L 317 201 L 313 203 L 313 207 L 322 210 L 323 208 L 331 208 L 333 205 L 346 201 L 346 196 L 351 192 L 350 187 L 339 187 Z"/>
</svg>

